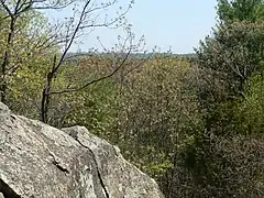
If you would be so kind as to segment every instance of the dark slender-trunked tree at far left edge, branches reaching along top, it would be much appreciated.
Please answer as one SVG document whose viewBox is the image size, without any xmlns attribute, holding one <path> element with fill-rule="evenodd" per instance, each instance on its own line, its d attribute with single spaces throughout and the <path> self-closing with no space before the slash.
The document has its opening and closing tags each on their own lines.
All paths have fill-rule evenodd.
<svg viewBox="0 0 264 198">
<path fill-rule="evenodd" d="M 1 12 L 1 23 L 4 24 L 4 32 L 2 35 L 3 48 L 1 57 L 1 101 L 7 102 L 7 94 L 9 89 L 10 77 L 15 74 L 16 69 L 23 65 L 22 61 L 28 59 L 29 56 L 32 56 L 32 48 L 46 48 L 51 44 L 50 33 L 44 32 L 40 26 L 36 26 L 38 30 L 34 30 L 32 22 L 38 18 L 40 12 L 36 10 L 45 9 L 62 9 L 67 7 L 73 2 L 67 1 L 34 1 L 34 0 L 18 0 L 18 1 L 0 1 L 0 12 Z M 38 15 L 38 16 L 36 16 Z M 44 28 L 42 25 L 42 28 Z M 34 30 L 34 31 L 33 31 Z M 46 30 L 46 29 L 44 29 Z M 29 45 L 32 34 L 34 34 L 34 40 Z M 41 33 L 41 35 L 38 33 Z M 43 34 L 47 33 L 46 38 L 43 40 Z M 41 36 L 42 40 L 38 40 Z M 33 36 L 32 36 L 33 37 Z M 24 43 L 22 41 L 26 40 Z M 32 45 L 31 45 L 32 44 Z M 36 44 L 36 46 L 34 45 Z M 48 44 L 48 45 L 47 45 Z M 50 46 L 51 47 L 51 46 Z M 19 51 L 18 51 L 19 50 Z M 23 52 L 24 54 L 16 54 L 18 52 Z M 33 51 L 34 52 L 34 51 Z M 25 57 L 26 56 L 26 57 Z M 16 59 L 19 58 L 19 59 Z M 32 57 L 31 57 L 32 58 Z"/>
</svg>

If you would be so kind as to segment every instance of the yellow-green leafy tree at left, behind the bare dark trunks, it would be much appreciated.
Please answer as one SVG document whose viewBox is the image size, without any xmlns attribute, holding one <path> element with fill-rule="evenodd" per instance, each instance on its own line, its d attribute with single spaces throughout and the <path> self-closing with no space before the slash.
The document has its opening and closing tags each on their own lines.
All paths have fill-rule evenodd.
<svg viewBox="0 0 264 198">
<path fill-rule="evenodd" d="M 57 43 L 51 38 L 51 26 L 45 16 L 34 10 L 18 15 L 10 45 L 10 18 L 3 20 L 1 34 L 1 96 L 16 113 L 38 119 L 41 86 L 44 86 L 51 56 L 58 53 Z M 8 45 L 7 45 L 8 44 Z"/>
</svg>

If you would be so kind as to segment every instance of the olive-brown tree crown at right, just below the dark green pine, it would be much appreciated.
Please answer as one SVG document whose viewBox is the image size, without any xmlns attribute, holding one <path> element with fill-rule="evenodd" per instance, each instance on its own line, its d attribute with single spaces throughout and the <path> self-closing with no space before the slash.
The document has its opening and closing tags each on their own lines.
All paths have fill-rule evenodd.
<svg viewBox="0 0 264 198">
<path fill-rule="evenodd" d="M 196 50 L 199 67 L 210 73 L 212 80 L 226 90 L 216 99 L 223 101 L 227 97 L 243 96 L 244 82 L 261 70 L 263 32 L 263 23 L 234 22 L 215 30 L 213 36 L 200 42 Z M 223 98 L 227 91 L 229 95 Z"/>
</svg>

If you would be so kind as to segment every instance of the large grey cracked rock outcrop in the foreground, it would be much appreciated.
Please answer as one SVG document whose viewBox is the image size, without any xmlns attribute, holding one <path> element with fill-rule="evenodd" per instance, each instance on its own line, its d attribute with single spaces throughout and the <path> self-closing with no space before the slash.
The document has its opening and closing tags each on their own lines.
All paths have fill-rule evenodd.
<svg viewBox="0 0 264 198">
<path fill-rule="evenodd" d="M 58 130 L 0 102 L 0 198 L 163 198 L 154 179 L 82 127 Z"/>
</svg>

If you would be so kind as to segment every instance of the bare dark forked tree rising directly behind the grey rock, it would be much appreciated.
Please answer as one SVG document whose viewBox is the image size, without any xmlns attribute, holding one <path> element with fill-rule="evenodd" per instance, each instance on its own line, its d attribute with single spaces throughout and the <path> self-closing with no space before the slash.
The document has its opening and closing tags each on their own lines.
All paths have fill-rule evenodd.
<svg viewBox="0 0 264 198">
<path fill-rule="evenodd" d="M 61 90 L 52 90 L 52 88 L 53 88 L 52 84 L 53 84 L 54 79 L 57 78 L 57 76 L 59 75 L 59 68 L 62 66 L 64 66 L 66 54 L 67 54 L 70 45 L 73 44 L 77 32 L 80 30 L 79 24 L 80 23 L 78 23 L 76 29 L 74 30 L 74 34 L 69 38 L 69 43 L 66 44 L 66 48 L 63 52 L 59 59 L 57 61 L 57 56 L 56 55 L 54 56 L 52 69 L 48 72 L 48 74 L 46 76 L 46 85 L 42 91 L 42 101 L 41 101 L 41 120 L 43 122 L 47 122 L 47 120 L 48 120 L 48 118 L 47 118 L 48 117 L 48 108 L 50 108 L 50 100 L 51 100 L 52 96 L 69 94 L 69 92 L 78 92 L 92 84 L 99 82 L 99 81 L 108 79 L 110 77 L 113 77 L 113 75 L 116 73 L 118 73 L 121 67 L 123 67 L 125 65 L 125 62 L 128 61 L 130 54 L 133 52 L 138 52 L 141 43 L 142 43 L 142 40 L 140 40 L 139 43 L 134 44 L 133 43 L 134 34 L 132 34 L 130 32 L 130 28 L 127 29 L 128 37 L 123 41 L 123 43 L 120 43 L 118 45 L 118 47 L 121 47 L 121 48 L 119 48 L 119 51 L 111 52 L 111 54 L 116 54 L 116 55 L 114 55 L 113 64 L 111 64 L 111 69 L 109 70 L 108 74 L 105 74 L 103 76 L 100 76 L 100 77 L 97 77 L 94 79 L 84 79 L 84 81 L 81 81 L 79 85 L 73 85 L 72 81 L 69 81 Z M 108 26 L 108 24 L 106 24 L 106 25 Z"/>
</svg>

